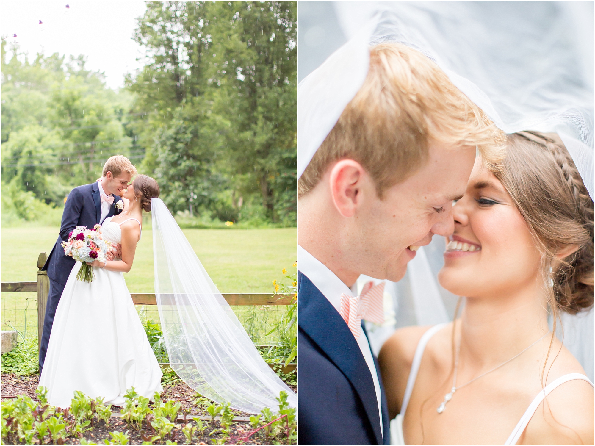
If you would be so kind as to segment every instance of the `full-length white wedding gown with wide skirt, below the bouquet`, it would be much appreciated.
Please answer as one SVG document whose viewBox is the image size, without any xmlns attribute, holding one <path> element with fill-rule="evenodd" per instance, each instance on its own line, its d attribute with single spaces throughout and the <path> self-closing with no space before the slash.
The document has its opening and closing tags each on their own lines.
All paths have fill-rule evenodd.
<svg viewBox="0 0 595 446">
<path fill-rule="evenodd" d="M 121 242 L 120 225 L 106 218 L 105 240 Z M 139 223 L 140 224 L 140 223 Z M 134 309 L 121 272 L 93 268 L 95 280 L 77 280 L 81 263 L 68 276 L 56 309 L 39 385 L 48 402 L 68 407 L 74 391 L 122 406 L 134 387 L 152 399 L 161 392 L 161 368 Z"/>
</svg>

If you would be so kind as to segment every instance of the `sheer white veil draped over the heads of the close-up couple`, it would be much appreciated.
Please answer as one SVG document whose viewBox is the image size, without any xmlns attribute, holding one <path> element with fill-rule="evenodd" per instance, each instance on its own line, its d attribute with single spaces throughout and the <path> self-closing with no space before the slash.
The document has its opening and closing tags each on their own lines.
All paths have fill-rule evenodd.
<svg viewBox="0 0 595 446">
<path fill-rule="evenodd" d="M 348 42 L 298 86 L 299 175 L 339 119 L 343 108 L 337 112 L 332 104 L 348 103 L 364 82 L 369 53 L 362 42 L 399 42 L 435 61 L 506 133 L 558 133 L 593 198 L 591 2 L 334 2 L 333 7 Z M 312 95 L 314 86 L 320 95 Z M 321 118 L 312 120 L 314 114 Z M 409 262 L 405 278 L 387 284 L 387 322 L 369 326 L 375 353 L 395 328 L 452 319 L 458 297 L 436 279 L 443 252 L 443 238 L 434 237 Z M 367 280 L 358 279 L 358 287 Z M 564 314 L 562 325 L 565 346 L 593 379 L 593 310 Z"/>
</svg>

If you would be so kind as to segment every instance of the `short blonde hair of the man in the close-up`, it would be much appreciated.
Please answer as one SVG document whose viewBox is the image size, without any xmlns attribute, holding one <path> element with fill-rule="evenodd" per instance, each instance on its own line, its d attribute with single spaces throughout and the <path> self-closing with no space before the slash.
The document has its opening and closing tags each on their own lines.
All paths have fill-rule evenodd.
<svg viewBox="0 0 595 446">
<path fill-rule="evenodd" d="M 505 156 L 505 134 L 438 65 L 399 43 L 373 46 L 364 85 L 306 167 L 298 194 L 314 189 L 331 163 L 349 158 L 367 170 L 382 197 L 427 162 L 431 140 L 477 146 L 490 169 Z"/>
</svg>

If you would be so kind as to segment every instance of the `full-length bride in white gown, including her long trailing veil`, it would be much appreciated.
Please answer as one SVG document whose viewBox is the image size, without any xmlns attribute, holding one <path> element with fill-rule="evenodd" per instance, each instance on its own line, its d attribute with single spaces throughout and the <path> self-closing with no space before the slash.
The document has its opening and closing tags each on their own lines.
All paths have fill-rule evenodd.
<svg viewBox="0 0 595 446">
<path fill-rule="evenodd" d="M 264 362 L 245 329 L 196 257 L 153 178 L 138 175 L 124 194 L 124 211 L 105 219 L 105 240 L 121 244 L 121 260 L 91 265 L 95 280 L 68 277 L 58 304 L 39 380 L 54 406 L 74 391 L 121 406 L 130 387 L 144 397 L 161 392 L 161 368 L 140 323 L 123 272 L 129 272 L 151 212 L 155 297 L 171 368 L 201 395 L 242 412 L 273 408 L 297 397 Z M 275 399 L 278 398 L 278 399 Z"/>
</svg>

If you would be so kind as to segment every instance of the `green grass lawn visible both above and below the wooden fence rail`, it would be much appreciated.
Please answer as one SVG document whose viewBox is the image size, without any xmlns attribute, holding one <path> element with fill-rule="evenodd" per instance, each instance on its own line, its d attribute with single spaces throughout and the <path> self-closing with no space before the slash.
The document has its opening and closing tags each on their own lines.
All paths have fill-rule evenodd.
<svg viewBox="0 0 595 446">
<path fill-rule="evenodd" d="M 154 293 L 153 238 L 150 225 L 143 230 L 134 264 L 125 274 L 131 293 Z M 2 282 L 37 281 L 37 257 L 48 253 L 58 238 L 58 228 L 2 228 Z M 296 228 L 216 230 L 187 229 L 190 241 L 211 279 L 221 293 L 272 293 L 273 279 L 282 279 L 281 269 L 292 268 L 296 260 Z M 258 344 L 275 342 L 264 338 L 285 307 L 232 307 Z M 37 293 L 2 293 L 2 329 L 15 329 L 27 337 L 37 332 Z M 159 321 L 155 306 L 137 306 L 142 318 Z"/>
</svg>

